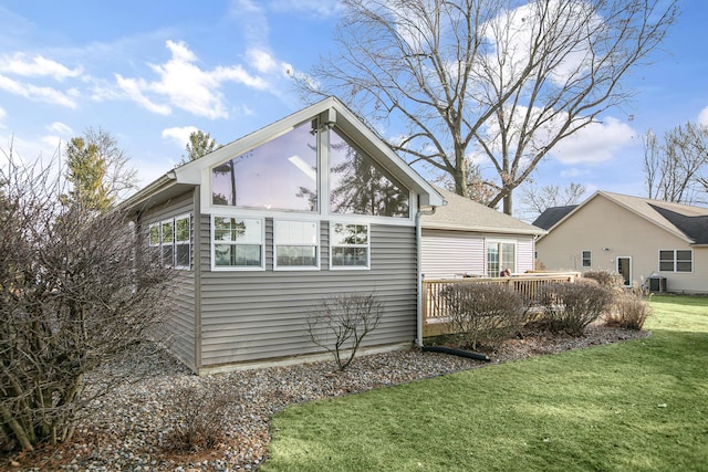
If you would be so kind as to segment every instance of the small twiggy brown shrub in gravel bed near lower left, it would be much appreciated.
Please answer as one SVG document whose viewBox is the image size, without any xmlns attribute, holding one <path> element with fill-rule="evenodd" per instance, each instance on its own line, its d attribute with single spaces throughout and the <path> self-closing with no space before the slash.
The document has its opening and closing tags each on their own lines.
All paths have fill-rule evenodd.
<svg viewBox="0 0 708 472">
<path fill-rule="evenodd" d="M 226 438 L 228 411 L 239 395 L 228 385 L 208 381 L 171 390 L 165 405 L 174 419 L 166 445 L 187 452 L 216 448 Z"/>
</svg>

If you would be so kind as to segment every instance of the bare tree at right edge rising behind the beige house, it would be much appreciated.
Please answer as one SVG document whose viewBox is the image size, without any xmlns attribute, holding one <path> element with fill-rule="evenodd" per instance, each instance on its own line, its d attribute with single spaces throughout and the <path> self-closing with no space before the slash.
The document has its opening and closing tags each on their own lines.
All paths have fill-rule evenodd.
<svg viewBox="0 0 708 472">
<path fill-rule="evenodd" d="M 644 143 L 644 175 L 648 198 L 677 203 L 708 201 L 708 126 L 686 123 L 659 141 L 648 130 Z"/>
</svg>

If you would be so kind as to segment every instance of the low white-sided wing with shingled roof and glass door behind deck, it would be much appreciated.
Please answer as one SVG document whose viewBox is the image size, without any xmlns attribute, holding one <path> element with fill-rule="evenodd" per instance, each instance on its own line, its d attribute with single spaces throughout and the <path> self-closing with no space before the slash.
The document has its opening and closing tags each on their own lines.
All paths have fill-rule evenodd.
<svg viewBox="0 0 708 472">
<path fill-rule="evenodd" d="M 533 270 L 541 228 L 519 221 L 454 192 L 437 189 L 447 204 L 421 218 L 424 279 L 499 276 Z"/>
</svg>

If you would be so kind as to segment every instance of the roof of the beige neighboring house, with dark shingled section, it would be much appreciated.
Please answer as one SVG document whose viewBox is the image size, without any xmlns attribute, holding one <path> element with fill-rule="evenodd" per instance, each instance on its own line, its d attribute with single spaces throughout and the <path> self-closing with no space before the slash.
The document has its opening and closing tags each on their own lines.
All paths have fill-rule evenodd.
<svg viewBox="0 0 708 472">
<path fill-rule="evenodd" d="M 657 228 L 660 228 L 664 231 L 668 231 L 676 237 L 681 238 L 689 244 L 708 244 L 708 208 L 691 207 L 688 204 L 674 203 L 664 200 L 654 200 L 649 198 L 631 197 L 627 195 L 613 193 L 601 190 L 593 193 L 583 203 L 572 208 L 564 216 L 558 219 L 553 224 L 546 228 L 549 232 L 558 225 L 562 224 L 563 221 L 572 218 L 572 216 L 576 211 L 579 211 L 580 208 L 584 207 L 595 198 L 605 198 L 625 208 L 627 211 L 631 211 L 636 216 L 644 218 Z M 560 214 L 562 213 L 562 211 L 559 210 L 558 213 Z M 549 217 L 549 221 L 550 220 L 551 218 Z M 534 221 L 534 223 L 537 221 Z"/>
</svg>

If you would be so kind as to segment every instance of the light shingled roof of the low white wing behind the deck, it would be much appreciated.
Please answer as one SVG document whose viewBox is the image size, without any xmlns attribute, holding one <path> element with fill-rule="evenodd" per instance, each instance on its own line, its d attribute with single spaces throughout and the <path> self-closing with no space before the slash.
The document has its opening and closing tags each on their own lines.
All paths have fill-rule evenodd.
<svg viewBox="0 0 708 472">
<path fill-rule="evenodd" d="M 544 234 L 545 231 L 517 220 L 469 198 L 437 188 L 447 206 L 420 218 L 423 228 L 438 230 L 479 231 L 490 233 Z"/>
</svg>

